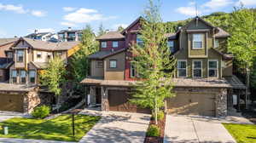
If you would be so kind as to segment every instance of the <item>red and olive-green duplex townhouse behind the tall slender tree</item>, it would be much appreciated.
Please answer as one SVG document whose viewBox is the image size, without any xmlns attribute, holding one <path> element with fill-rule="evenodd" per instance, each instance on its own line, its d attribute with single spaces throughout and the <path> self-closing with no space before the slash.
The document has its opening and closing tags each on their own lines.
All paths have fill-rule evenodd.
<svg viewBox="0 0 256 143">
<path fill-rule="evenodd" d="M 138 79 L 131 66 L 131 44 L 143 43 L 138 18 L 124 31 L 109 31 L 97 37 L 101 49 L 91 54 L 88 104 L 102 111 L 144 112 L 131 105 L 129 90 Z M 195 17 L 176 33 L 166 33 L 168 47 L 177 59 L 173 77 L 176 97 L 166 99 L 166 111 L 177 114 L 226 116 L 233 109 L 233 94 L 241 94 L 243 83 L 232 74 L 233 56 L 227 53 L 226 31 Z"/>
</svg>

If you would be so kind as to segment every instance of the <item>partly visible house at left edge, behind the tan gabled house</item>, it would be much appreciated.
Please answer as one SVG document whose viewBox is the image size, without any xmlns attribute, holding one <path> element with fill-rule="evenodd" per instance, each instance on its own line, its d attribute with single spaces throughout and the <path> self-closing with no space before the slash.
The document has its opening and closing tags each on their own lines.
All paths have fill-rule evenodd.
<svg viewBox="0 0 256 143">
<path fill-rule="evenodd" d="M 9 79 L 9 66 L 13 62 L 13 54 L 8 51 L 18 39 L 17 37 L 0 38 L 0 82 Z"/>
</svg>

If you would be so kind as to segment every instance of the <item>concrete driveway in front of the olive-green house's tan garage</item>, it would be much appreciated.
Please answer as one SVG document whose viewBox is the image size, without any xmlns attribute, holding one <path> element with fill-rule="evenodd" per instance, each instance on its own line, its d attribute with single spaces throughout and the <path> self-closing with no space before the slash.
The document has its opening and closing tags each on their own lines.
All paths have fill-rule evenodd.
<svg viewBox="0 0 256 143">
<path fill-rule="evenodd" d="M 247 120 L 200 116 L 168 115 L 164 142 L 236 143 L 221 123 L 245 123 Z M 247 122 L 250 123 L 250 122 Z"/>
</svg>

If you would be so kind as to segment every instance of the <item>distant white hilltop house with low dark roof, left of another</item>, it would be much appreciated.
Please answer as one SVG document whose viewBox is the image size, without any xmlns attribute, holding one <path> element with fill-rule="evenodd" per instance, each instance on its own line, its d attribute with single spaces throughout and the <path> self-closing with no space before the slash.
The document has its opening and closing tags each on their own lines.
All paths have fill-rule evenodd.
<svg viewBox="0 0 256 143">
<path fill-rule="evenodd" d="M 26 36 L 27 38 L 32 38 L 35 40 L 41 40 L 41 41 L 47 41 L 47 42 L 58 42 L 58 36 L 57 34 L 51 33 L 51 32 L 38 32 L 35 30 L 34 33 L 29 34 Z"/>
</svg>

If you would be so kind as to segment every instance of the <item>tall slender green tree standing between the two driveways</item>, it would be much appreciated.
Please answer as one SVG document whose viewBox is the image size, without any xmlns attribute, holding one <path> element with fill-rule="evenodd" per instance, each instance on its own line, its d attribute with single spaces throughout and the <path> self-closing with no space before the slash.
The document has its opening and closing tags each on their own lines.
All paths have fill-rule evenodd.
<svg viewBox="0 0 256 143">
<path fill-rule="evenodd" d="M 134 55 L 131 64 L 137 67 L 137 72 L 143 79 L 136 84 L 131 103 L 151 108 L 154 115 L 158 115 L 166 98 L 174 96 L 172 76 L 176 63 L 167 48 L 166 26 L 161 20 L 159 10 L 159 4 L 149 0 L 141 20 L 143 44 L 131 46 L 131 53 Z M 157 124 L 157 116 L 154 119 Z"/>
</svg>

